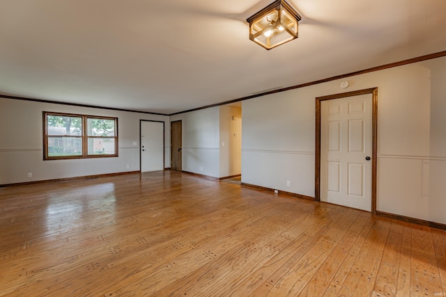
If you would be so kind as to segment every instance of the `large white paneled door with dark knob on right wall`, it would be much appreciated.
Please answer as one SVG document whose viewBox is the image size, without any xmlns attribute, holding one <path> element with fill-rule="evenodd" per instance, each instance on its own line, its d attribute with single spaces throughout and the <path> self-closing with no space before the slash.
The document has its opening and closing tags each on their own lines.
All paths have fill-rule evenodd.
<svg viewBox="0 0 446 297">
<path fill-rule="evenodd" d="M 371 94 L 321 102 L 321 201 L 371 211 Z"/>
</svg>

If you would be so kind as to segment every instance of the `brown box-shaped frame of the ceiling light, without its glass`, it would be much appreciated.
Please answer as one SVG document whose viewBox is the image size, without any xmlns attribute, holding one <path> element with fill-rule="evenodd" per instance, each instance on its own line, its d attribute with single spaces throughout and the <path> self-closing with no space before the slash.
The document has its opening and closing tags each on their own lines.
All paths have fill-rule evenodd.
<svg viewBox="0 0 446 297">
<path fill-rule="evenodd" d="M 277 20 L 275 22 L 270 22 L 268 20 L 268 22 L 270 22 L 270 25 L 261 29 L 260 31 L 253 28 L 254 24 L 256 24 L 263 17 L 270 15 L 270 13 L 274 12 L 274 10 L 277 10 Z M 282 22 L 282 20 L 284 19 L 282 15 L 283 10 L 285 10 L 287 13 L 286 17 L 295 21 L 295 31 L 290 29 L 289 26 L 286 26 L 286 24 Z M 276 0 L 270 5 L 266 6 L 266 8 L 259 10 L 257 13 L 254 13 L 254 15 L 246 19 L 246 22 L 249 23 L 249 39 L 256 42 L 256 44 L 267 50 L 273 49 L 275 47 L 278 47 L 279 45 L 283 45 L 286 42 L 298 38 L 298 22 L 300 21 L 300 19 L 302 19 L 302 17 L 300 17 L 300 15 L 289 5 L 289 3 L 286 3 L 286 1 L 284 0 Z M 279 28 L 279 26 L 282 31 L 286 31 L 287 33 L 289 33 L 289 38 L 284 38 L 284 40 L 280 40 L 279 42 L 271 44 L 270 41 L 272 37 L 277 35 L 277 29 Z M 253 31 L 256 32 L 253 33 Z M 273 33 L 266 37 L 266 42 L 261 42 L 258 37 L 261 35 L 266 35 L 267 31 L 271 31 Z"/>
</svg>

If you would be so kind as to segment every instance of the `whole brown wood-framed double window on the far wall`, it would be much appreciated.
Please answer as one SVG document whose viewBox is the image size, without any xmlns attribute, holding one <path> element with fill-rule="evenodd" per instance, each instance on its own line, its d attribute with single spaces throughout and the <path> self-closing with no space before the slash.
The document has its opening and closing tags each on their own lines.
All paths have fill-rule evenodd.
<svg viewBox="0 0 446 297">
<path fill-rule="evenodd" d="M 44 159 L 118 156 L 118 119 L 43 112 Z"/>
</svg>

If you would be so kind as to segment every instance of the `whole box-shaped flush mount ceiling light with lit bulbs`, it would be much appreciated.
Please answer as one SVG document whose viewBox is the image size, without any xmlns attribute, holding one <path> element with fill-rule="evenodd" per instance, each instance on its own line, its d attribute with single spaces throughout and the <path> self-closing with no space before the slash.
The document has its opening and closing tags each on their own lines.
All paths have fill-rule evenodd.
<svg viewBox="0 0 446 297">
<path fill-rule="evenodd" d="M 246 19 L 249 39 L 261 47 L 272 49 L 298 38 L 301 17 L 284 0 L 277 0 Z"/>
</svg>

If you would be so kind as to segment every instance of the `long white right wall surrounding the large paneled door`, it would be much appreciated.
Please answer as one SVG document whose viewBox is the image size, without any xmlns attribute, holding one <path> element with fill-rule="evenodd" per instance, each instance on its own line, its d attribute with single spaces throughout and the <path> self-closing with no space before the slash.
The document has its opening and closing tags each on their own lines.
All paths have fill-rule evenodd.
<svg viewBox="0 0 446 297">
<path fill-rule="evenodd" d="M 314 197 L 315 98 L 378 87 L 377 209 L 446 223 L 446 57 L 348 81 L 244 101 L 242 182 Z"/>
</svg>

